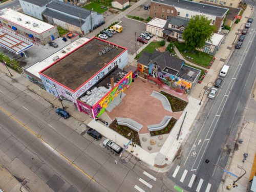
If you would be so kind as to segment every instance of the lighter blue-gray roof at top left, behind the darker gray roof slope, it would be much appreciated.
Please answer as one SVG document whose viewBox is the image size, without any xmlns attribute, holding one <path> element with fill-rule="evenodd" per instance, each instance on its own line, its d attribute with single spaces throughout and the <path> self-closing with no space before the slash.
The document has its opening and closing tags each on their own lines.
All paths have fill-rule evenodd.
<svg viewBox="0 0 256 192">
<path fill-rule="evenodd" d="M 90 15 L 90 10 L 88 9 L 83 9 L 68 3 L 58 1 L 52 1 L 46 7 L 83 19 L 87 18 Z"/>
</svg>

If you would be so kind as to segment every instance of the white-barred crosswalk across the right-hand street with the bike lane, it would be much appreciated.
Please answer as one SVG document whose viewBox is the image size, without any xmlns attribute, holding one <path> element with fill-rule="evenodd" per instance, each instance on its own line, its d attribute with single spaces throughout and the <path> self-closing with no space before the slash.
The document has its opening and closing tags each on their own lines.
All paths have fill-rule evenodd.
<svg viewBox="0 0 256 192">
<path fill-rule="evenodd" d="M 187 185 L 189 188 L 194 187 L 193 185 L 195 185 L 196 188 L 196 192 L 201 192 L 202 190 L 202 185 L 204 183 L 204 180 L 202 178 L 197 178 L 196 179 L 196 175 L 188 172 L 187 169 L 182 169 L 179 165 L 176 166 L 174 173 L 172 174 L 172 177 L 175 178 L 176 180 L 179 180 L 181 183 Z M 197 183 L 196 181 L 199 180 L 199 182 Z M 204 190 L 205 192 L 209 192 L 211 188 L 211 184 L 207 183 L 207 187 Z"/>
</svg>

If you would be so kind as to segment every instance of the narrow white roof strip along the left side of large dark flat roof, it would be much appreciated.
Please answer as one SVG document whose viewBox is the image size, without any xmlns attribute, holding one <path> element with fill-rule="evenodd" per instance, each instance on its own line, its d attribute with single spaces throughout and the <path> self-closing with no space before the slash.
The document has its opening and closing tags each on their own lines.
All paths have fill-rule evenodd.
<svg viewBox="0 0 256 192">
<path fill-rule="evenodd" d="M 58 52 L 54 53 L 50 57 L 46 58 L 45 60 L 35 63 L 33 66 L 27 68 L 26 71 L 33 74 L 37 78 L 41 79 L 38 72 L 40 72 L 41 70 L 52 65 L 52 63 L 54 62 L 53 61 L 54 57 L 61 58 L 65 55 L 67 55 L 68 53 L 70 53 L 71 51 L 75 50 L 76 48 L 78 48 L 79 46 L 84 44 L 84 42 L 87 42 L 88 40 L 90 40 L 90 39 L 86 38 L 86 37 L 81 37 L 81 38 L 75 40 L 74 42 L 72 42 L 71 44 L 69 44 L 68 46 L 66 46 L 65 48 L 59 50 Z"/>
</svg>

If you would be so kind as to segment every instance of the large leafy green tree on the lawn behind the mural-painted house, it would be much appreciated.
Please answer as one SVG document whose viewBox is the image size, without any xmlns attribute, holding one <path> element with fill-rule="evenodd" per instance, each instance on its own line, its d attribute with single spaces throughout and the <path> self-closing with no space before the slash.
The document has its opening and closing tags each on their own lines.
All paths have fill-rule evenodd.
<svg viewBox="0 0 256 192">
<path fill-rule="evenodd" d="M 187 42 L 187 49 L 193 51 L 202 48 L 205 41 L 210 41 L 211 36 L 217 30 L 215 25 L 210 25 L 211 19 L 204 15 L 195 15 L 191 18 L 183 32 L 183 39 Z"/>
</svg>

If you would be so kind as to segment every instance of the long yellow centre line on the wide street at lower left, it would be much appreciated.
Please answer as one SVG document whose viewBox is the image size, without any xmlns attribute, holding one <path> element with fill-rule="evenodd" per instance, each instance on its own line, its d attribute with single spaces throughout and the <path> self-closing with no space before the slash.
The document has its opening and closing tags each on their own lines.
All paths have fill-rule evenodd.
<svg viewBox="0 0 256 192">
<path fill-rule="evenodd" d="M 25 124 L 23 124 L 22 122 L 20 122 L 18 119 L 16 119 L 14 116 L 12 116 L 8 111 L 6 111 L 4 108 L 2 108 L 2 106 L 0 106 L 0 109 L 3 110 L 6 114 L 8 114 L 11 118 L 13 118 L 15 121 L 17 121 L 19 124 L 21 124 L 22 126 L 24 126 L 30 133 L 32 133 L 33 135 L 35 135 L 37 138 L 39 138 L 42 142 L 48 144 L 50 147 L 52 147 L 47 141 L 45 141 L 44 139 L 41 138 L 40 135 L 37 135 L 35 132 L 33 132 L 31 129 L 29 129 L 29 127 L 27 127 Z M 52 147 L 54 148 L 54 147 Z M 62 155 L 60 152 L 56 151 L 54 149 L 55 152 L 57 152 L 63 159 L 67 160 L 69 163 L 71 163 L 71 165 L 73 165 L 74 167 L 76 167 L 80 172 L 82 172 L 84 175 L 86 175 L 87 177 L 89 177 L 92 181 L 95 182 L 95 180 L 89 176 L 86 172 L 84 172 L 81 168 L 79 168 L 76 164 L 74 164 L 73 162 L 71 162 L 67 157 L 65 157 L 64 155 Z"/>
</svg>

